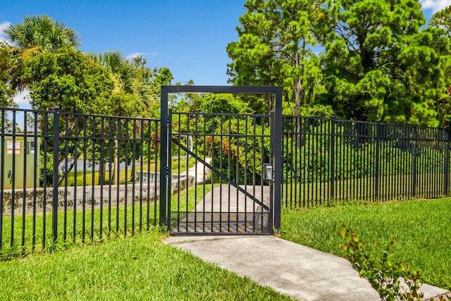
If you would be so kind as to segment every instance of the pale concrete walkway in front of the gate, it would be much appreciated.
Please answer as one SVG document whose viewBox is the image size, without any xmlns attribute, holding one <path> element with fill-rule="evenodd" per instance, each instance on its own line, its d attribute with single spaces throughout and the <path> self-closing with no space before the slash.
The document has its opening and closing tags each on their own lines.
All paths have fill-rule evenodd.
<svg viewBox="0 0 451 301">
<path fill-rule="evenodd" d="M 297 300 L 381 300 L 346 259 L 270 235 L 172 236 L 167 243 Z M 424 299 L 447 290 L 422 285 Z"/>
</svg>

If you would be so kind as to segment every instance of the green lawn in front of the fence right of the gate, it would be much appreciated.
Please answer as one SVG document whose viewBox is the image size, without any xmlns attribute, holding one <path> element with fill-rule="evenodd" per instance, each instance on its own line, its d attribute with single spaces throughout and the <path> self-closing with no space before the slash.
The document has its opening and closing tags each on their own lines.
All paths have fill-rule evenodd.
<svg viewBox="0 0 451 301">
<path fill-rule="evenodd" d="M 390 259 L 419 270 L 425 283 L 451 290 L 451 198 L 284 208 L 280 235 L 342 256 L 340 221 L 366 243 L 372 258 L 396 237 Z"/>
</svg>

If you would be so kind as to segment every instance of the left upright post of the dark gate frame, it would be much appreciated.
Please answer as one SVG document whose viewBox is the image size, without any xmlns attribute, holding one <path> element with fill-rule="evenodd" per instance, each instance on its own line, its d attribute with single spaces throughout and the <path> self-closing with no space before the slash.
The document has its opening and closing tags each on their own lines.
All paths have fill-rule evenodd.
<svg viewBox="0 0 451 301">
<path fill-rule="evenodd" d="M 166 226 L 168 230 L 168 220 L 166 215 L 166 205 L 168 202 L 168 188 L 166 178 L 166 168 L 168 165 L 168 125 L 170 119 L 168 116 L 168 90 L 161 86 L 161 158 L 160 158 L 160 216 L 159 223 Z"/>
</svg>

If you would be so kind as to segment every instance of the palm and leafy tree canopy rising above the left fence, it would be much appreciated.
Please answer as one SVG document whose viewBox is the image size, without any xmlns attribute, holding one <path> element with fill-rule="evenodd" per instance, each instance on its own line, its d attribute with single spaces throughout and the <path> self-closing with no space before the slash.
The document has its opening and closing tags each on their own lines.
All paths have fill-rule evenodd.
<svg viewBox="0 0 451 301">
<path fill-rule="evenodd" d="M 4 30 L 0 45 L 0 104 L 13 105 L 28 90 L 35 109 L 121 116 L 155 116 L 160 85 L 173 80 L 168 68 L 149 68 L 142 56 L 120 51 L 85 54 L 72 28 L 47 15 L 25 16 Z"/>
</svg>

